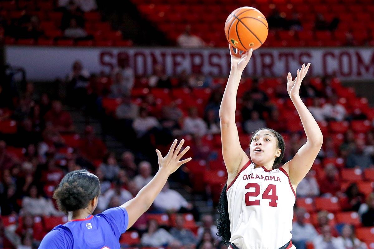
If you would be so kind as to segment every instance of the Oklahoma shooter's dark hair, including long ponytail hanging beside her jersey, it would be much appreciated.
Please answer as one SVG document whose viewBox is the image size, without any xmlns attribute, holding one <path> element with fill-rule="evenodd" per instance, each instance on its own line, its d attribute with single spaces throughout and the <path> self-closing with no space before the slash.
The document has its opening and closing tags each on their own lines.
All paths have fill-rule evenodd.
<svg viewBox="0 0 374 249">
<path fill-rule="evenodd" d="M 252 140 L 253 140 L 253 137 L 255 136 L 255 134 L 257 134 L 257 132 L 261 131 L 261 130 L 268 130 L 271 133 L 273 133 L 274 136 L 277 138 L 277 147 L 279 149 L 281 149 L 282 152 L 281 152 L 281 155 L 275 159 L 274 164 L 273 164 L 273 169 L 278 169 L 278 168 L 280 168 L 280 166 L 278 166 L 278 164 L 280 162 L 282 162 L 282 159 L 283 159 L 283 156 L 284 156 L 284 150 L 285 150 L 284 139 L 283 139 L 282 135 L 279 134 L 278 132 L 276 132 L 275 130 L 272 130 L 272 129 L 269 129 L 269 128 L 261 128 L 261 129 L 255 131 L 253 133 L 250 143 L 252 143 Z M 228 210 L 229 203 L 227 201 L 226 190 L 227 190 L 227 183 L 225 184 L 225 186 L 222 189 L 220 200 L 218 202 L 218 207 L 217 207 L 217 211 L 220 214 L 220 218 L 217 220 L 217 229 L 218 229 L 217 236 L 220 236 L 222 238 L 222 242 L 225 245 L 230 243 L 229 241 L 230 241 L 230 237 L 231 237 L 230 219 L 229 219 L 229 210 Z"/>
</svg>

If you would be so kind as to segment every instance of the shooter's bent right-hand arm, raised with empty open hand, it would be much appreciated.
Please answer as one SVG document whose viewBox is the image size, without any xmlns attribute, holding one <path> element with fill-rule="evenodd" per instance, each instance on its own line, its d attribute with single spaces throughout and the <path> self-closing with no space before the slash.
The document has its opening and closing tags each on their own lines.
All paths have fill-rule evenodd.
<svg viewBox="0 0 374 249">
<path fill-rule="evenodd" d="M 288 167 L 289 178 L 294 188 L 312 167 L 323 142 L 321 129 L 299 96 L 301 81 L 308 72 L 309 66 L 310 63 L 307 66 L 303 64 L 301 69 L 297 70 L 295 80 L 292 80 L 291 73 L 287 75 L 287 91 L 300 116 L 307 137 L 307 142 L 298 150 L 294 158 L 283 165 L 284 168 Z"/>
</svg>

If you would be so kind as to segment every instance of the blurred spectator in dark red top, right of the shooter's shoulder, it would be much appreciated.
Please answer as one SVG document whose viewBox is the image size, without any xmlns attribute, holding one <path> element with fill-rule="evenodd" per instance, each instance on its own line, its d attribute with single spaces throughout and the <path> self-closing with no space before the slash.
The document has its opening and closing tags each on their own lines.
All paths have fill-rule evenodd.
<svg viewBox="0 0 374 249">
<path fill-rule="evenodd" d="M 338 170 L 334 165 L 325 167 L 325 176 L 319 181 L 319 190 L 325 196 L 334 196 L 340 191 Z"/>
</svg>

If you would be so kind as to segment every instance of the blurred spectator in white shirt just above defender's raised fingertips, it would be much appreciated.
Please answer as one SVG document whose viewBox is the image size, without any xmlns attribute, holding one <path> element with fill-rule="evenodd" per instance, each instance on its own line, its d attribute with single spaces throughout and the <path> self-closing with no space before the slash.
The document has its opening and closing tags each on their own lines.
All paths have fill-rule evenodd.
<svg viewBox="0 0 374 249">
<path fill-rule="evenodd" d="M 206 123 L 199 117 L 196 107 L 191 107 L 189 116 L 184 119 L 183 131 L 185 134 L 204 136 L 207 132 Z"/>
</svg>

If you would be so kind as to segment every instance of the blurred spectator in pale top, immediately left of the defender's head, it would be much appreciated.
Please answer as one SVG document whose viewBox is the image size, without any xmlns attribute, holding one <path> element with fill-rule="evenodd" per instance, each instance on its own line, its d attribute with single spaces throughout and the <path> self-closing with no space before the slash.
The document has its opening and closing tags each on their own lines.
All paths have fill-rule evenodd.
<svg viewBox="0 0 374 249">
<path fill-rule="evenodd" d="M 29 196 L 25 196 L 22 199 L 22 213 L 38 216 L 64 215 L 64 213 L 56 210 L 51 199 L 46 199 L 39 193 L 39 190 L 35 185 L 30 187 Z"/>
</svg>

